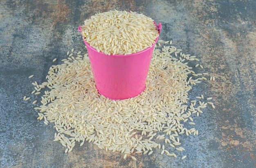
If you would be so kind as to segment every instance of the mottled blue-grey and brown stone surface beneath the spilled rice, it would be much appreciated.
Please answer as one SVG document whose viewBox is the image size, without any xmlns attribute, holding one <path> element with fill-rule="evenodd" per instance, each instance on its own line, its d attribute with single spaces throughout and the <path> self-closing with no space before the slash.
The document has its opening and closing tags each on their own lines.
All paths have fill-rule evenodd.
<svg viewBox="0 0 256 168">
<path fill-rule="evenodd" d="M 190 92 L 191 98 L 213 97 L 216 108 L 195 118 L 199 135 L 181 138 L 186 151 L 177 159 L 156 150 L 138 155 L 137 161 L 124 160 L 88 142 L 65 154 L 53 142 L 53 125 L 36 120 L 32 100 L 22 99 L 33 90 L 31 82 L 45 81 L 49 67 L 61 63 L 68 50 L 83 50 L 77 27 L 85 19 L 113 9 L 162 22 L 159 39 L 172 39 L 174 46 L 197 56 L 204 69 L 195 71 L 216 78 Z M 34 78 L 28 79 L 31 74 Z M 256 167 L 255 81 L 255 0 L 1 0 L 0 167 Z M 181 160 L 182 155 L 187 158 Z"/>
</svg>

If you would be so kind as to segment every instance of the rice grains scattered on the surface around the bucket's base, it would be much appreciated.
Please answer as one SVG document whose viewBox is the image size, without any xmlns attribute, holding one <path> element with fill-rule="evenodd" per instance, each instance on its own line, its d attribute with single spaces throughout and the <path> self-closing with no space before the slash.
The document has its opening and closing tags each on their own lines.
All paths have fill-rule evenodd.
<svg viewBox="0 0 256 168">
<path fill-rule="evenodd" d="M 65 146 L 65 153 L 72 151 L 76 142 L 82 146 L 88 141 L 100 149 L 120 152 L 124 159 L 136 160 L 135 153 L 151 155 L 157 151 L 154 148 L 161 149 L 162 155 L 185 159 L 180 135 L 198 135 L 193 117 L 214 105 L 209 101 L 211 97 L 203 95 L 189 100 L 192 85 L 207 80 L 204 76 L 208 73 L 196 74 L 187 63 L 199 60 L 170 44 L 166 41 L 166 46 L 155 48 L 146 89 L 134 98 L 110 100 L 101 96 L 88 54 L 72 49 L 63 63 L 49 68 L 46 82 L 32 83 L 34 98 L 44 93 L 40 104 L 30 97 L 23 99 L 38 105 L 38 120 L 54 125 L 54 141 Z"/>
</svg>

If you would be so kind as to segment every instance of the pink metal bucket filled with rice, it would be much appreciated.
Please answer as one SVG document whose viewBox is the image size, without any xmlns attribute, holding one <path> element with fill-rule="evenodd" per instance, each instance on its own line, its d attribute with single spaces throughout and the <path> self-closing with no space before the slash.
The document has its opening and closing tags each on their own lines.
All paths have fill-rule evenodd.
<svg viewBox="0 0 256 168">
<path fill-rule="evenodd" d="M 159 34 L 161 23 L 154 22 Z M 81 26 L 78 27 L 81 32 Z M 157 42 L 158 37 L 155 39 Z M 99 94 L 114 100 L 139 95 L 146 87 L 146 78 L 155 44 L 130 55 L 106 55 L 84 41 L 90 59 L 92 74 Z"/>
</svg>

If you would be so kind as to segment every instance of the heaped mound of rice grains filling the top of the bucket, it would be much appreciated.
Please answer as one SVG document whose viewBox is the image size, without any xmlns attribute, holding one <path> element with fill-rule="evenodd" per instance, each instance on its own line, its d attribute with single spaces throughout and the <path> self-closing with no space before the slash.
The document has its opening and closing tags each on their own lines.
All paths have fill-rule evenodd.
<svg viewBox="0 0 256 168">
<path fill-rule="evenodd" d="M 98 52 L 128 55 L 151 47 L 159 32 L 150 17 L 127 11 L 93 15 L 81 26 L 83 39 Z"/>
</svg>

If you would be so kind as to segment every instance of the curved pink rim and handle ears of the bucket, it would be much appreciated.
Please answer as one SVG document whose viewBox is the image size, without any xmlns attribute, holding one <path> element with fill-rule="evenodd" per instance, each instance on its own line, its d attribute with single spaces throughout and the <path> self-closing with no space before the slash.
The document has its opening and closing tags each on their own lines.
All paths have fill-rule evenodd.
<svg viewBox="0 0 256 168">
<path fill-rule="evenodd" d="M 157 23 L 156 23 L 155 21 L 153 21 L 153 22 L 154 22 L 154 24 L 155 24 L 155 26 L 156 26 L 156 28 L 157 28 L 157 30 L 158 30 L 158 32 L 159 32 L 157 38 L 155 39 L 155 43 L 152 44 L 151 47 L 148 47 L 148 48 L 146 48 L 146 49 L 144 49 L 144 50 L 142 50 L 142 51 L 135 52 L 135 53 L 132 53 L 132 54 L 128 54 L 128 55 L 112 55 L 112 54 L 110 54 L 110 55 L 107 55 L 107 54 L 105 54 L 105 53 L 103 53 L 103 52 L 101 52 L 101 51 L 97 51 L 97 49 L 95 49 L 95 48 L 93 48 L 92 46 L 90 46 L 90 44 L 88 44 L 88 42 L 86 42 L 85 40 L 83 40 L 83 41 L 84 41 L 85 46 L 86 46 L 87 48 L 90 48 L 91 50 L 94 50 L 95 52 L 99 52 L 99 53 L 101 53 L 101 54 L 103 54 L 103 55 L 107 55 L 107 56 L 110 56 L 110 57 L 111 57 L 111 56 L 112 56 L 112 57 L 130 57 L 130 56 L 134 56 L 134 55 L 137 55 L 137 54 L 141 54 L 141 53 L 143 53 L 143 52 L 145 52 L 145 51 L 147 51 L 147 50 L 150 50 L 150 49 L 153 48 L 153 47 L 155 46 L 155 44 L 157 43 L 157 40 L 158 40 L 158 38 L 159 38 L 161 29 L 162 29 L 162 24 L 161 24 L 161 22 L 159 22 L 159 24 L 157 25 Z M 81 32 L 81 25 L 78 27 L 78 30 Z M 82 35 L 82 32 L 81 32 L 81 35 Z"/>
</svg>

